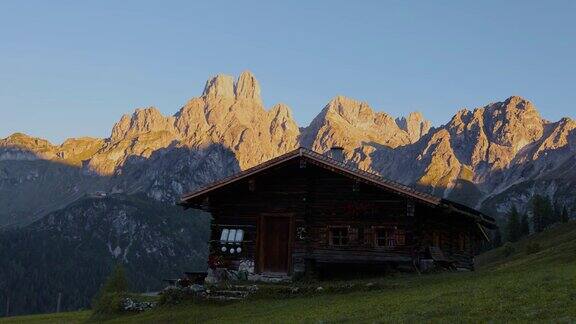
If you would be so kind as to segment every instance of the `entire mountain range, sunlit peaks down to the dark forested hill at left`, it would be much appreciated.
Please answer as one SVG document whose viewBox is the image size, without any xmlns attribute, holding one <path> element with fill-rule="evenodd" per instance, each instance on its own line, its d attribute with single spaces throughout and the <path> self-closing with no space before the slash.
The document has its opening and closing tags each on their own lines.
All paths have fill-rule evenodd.
<svg viewBox="0 0 576 324">
<path fill-rule="evenodd" d="M 395 118 L 337 96 L 299 127 L 286 104 L 264 107 L 252 73 L 217 75 L 174 115 L 136 109 L 108 138 L 0 139 L 8 269 L 0 289 L 20 313 L 52 311 L 59 291 L 74 309 L 88 305 L 114 262 L 128 265 L 137 289 L 160 289 L 163 276 L 205 266 L 207 217 L 175 208 L 180 195 L 299 146 L 341 146 L 347 163 L 500 220 L 512 205 L 525 211 L 535 194 L 574 212 L 575 129 L 518 96 L 461 109 L 437 127 L 418 112 Z M 30 287 L 18 290 L 20 280 Z"/>
</svg>

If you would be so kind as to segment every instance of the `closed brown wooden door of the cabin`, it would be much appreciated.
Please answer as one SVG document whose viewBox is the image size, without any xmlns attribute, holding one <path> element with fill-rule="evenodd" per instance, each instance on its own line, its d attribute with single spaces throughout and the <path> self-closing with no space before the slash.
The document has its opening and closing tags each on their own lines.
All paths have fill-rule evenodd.
<svg viewBox="0 0 576 324">
<path fill-rule="evenodd" d="M 260 272 L 288 273 L 291 254 L 291 217 L 262 216 L 259 239 Z"/>
</svg>

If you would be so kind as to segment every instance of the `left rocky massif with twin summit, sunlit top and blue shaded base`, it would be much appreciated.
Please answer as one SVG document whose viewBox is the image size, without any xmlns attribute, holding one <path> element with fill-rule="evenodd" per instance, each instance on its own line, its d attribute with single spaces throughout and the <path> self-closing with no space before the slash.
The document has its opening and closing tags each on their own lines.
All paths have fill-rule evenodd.
<svg viewBox="0 0 576 324">
<path fill-rule="evenodd" d="M 202 95 L 190 99 L 173 116 L 164 116 L 154 107 L 136 109 L 122 116 L 106 139 L 70 139 L 58 146 L 14 134 L 0 141 L 0 161 L 10 167 L 16 161 L 42 161 L 44 169 L 35 166 L 32 174 L 45 173 L 46 163 L 50 168 L 70 166 L 58 168 L 70 175 L 64 178 L 73 179 L 62 179 L 62 183 L 71 181 L 65 186 L 56 178 L 42 182 L 41 177 L 21 175 L 38 178 L 30 184 L 38 191 L 61 192 L 54 197 L 61 202 L 54 204 L 57 207 L 94 191 L 144 192 L 173 203 L 186 191 L 297 148 L 299 136 L 290 108 L 279 103 L 266 109 L 258 81 L 243 72 L 236 80 L 226 75 L 210 78 Z M 11 179 L 3 182 L 10 192 L 5 197 L 22 198 L 4 217 L 31 214 L 32 207 L 24 203 L 30 189 L 9 190 L 9 182 L 22 179 L 12 179 L 14 172 L 2 174 Z M 40 203 L 37 209 L 47 204 Z"/>
</svg>

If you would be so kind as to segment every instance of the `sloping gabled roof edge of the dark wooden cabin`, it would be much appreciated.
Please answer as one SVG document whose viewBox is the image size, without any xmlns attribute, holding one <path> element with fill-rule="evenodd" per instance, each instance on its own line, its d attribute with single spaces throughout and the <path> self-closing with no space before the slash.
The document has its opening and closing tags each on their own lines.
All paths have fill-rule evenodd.
<svg viewBox="0 0 576 324">
<path fill-rule="evenodd" d="M 447 207 L 447 208 L 454 210 L 454 211 L 457 211 L 459 213 L 466 214 L 468 216 L 472 216 L 473 218 L 475 218 L 478 221 L 478 223 L 480 223 L 480 224 L 482 224 L 488 228 L 495 228 L 495 221 L 492 217 L 484 215 L 483 213 L 481 213 L 481 212 L 479 212 L 473 208 L 470 208 L 468 206 L 453 202 L 453 201 L 448 200 L 448 199 L 439 198 L 439 197 L 436 197 L 434 195 L 430 195 L 430 194 L 427 194 L 425 192 L 418 191 L 412 187 L 403 185 L 401 183 L 398 183 L 398 182 L 395 182 L 395 181 L 392 181 L 389 179 L 385 179 L 376 173 L 360 170 L 360 169 L 358 169 L 358 168 L 356 168 L 356 167 L 354 167 L 348 163 L 344 163 L 344 162 L 332 159 L 332 158 L 330 158 L 324 154 L 317 153 L 313 150 L 310 150 L 310 149 L 307 149 L 304 147 L 297 148 L 293 151 L 290 151 L 290 152 L 285 153 L 283 155 L 280 155 L 276 158 L 273 158 L 271 160 L 268 160 L 266 162 L 258 164 L 254 167 L 251 167 L 251 168 L 246 169 L 244 171 L 235 173 L 231 176 L 225 177 L 225 178 L 220 179 L 218 181 L 212 182 L 206 186 L 200 187 L 195 191 L 186 193 L 181 197 L 181 200 L 178 204 L 182 205 L 182 206 L 189 205 L 192 202 L 192 200 L 195 200 L 195 198 L 199 198 L 201 196 L 204 196 L 205 194 L 207 194 L 213 190 L 227 186 L 228 184 L 231 184 L 231 183 L 236 182 L 238 180 L 244 179 L 244 178 L 249 177 L 251 175 L 257 174 L 257 173 L 264 171 L 264 170 L 267 170 L 273 166 L 285 163 L 289 160 L 292 160 L 292 159 L 295 159 L 298 157 L 306 158 L 307 160 L 310 160 L 311 162 L 313 162 L 314 164 L 316 164 L 320 167 L 324 167 L 326 169 L 340 172 L 340 173 L 343 173 L 345 175 L 363 180 L 367 183 L 370 183 L 372 185 L 376 185 L 376 186 L 381 187 L 383 189 L 387 189 L 387 190 L 395 192 L 397 194 L 416 199 L 422 203 L 432 205 L 435 207 Z"/>
</svg>

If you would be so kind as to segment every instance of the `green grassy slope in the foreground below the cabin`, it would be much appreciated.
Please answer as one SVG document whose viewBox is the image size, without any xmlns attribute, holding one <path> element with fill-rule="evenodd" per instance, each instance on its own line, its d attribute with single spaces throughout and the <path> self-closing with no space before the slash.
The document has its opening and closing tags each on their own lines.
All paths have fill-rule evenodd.
<svg viewBox="0 0 576 324">
<path fill-rule="evenodd" d="M 287 299 L 182 304 L 110 323 L 526 322 L 576 321 L 576 222 L 481 255 L 479 270 L 371 280 L 379 289 Z M 367 281 L 355 281 L 362 286 Z M 328 283 L 317 283 L 318 286 Z M 0 323 L 85 321 L 88 312 L 0 319 Z"/>
</svg>

